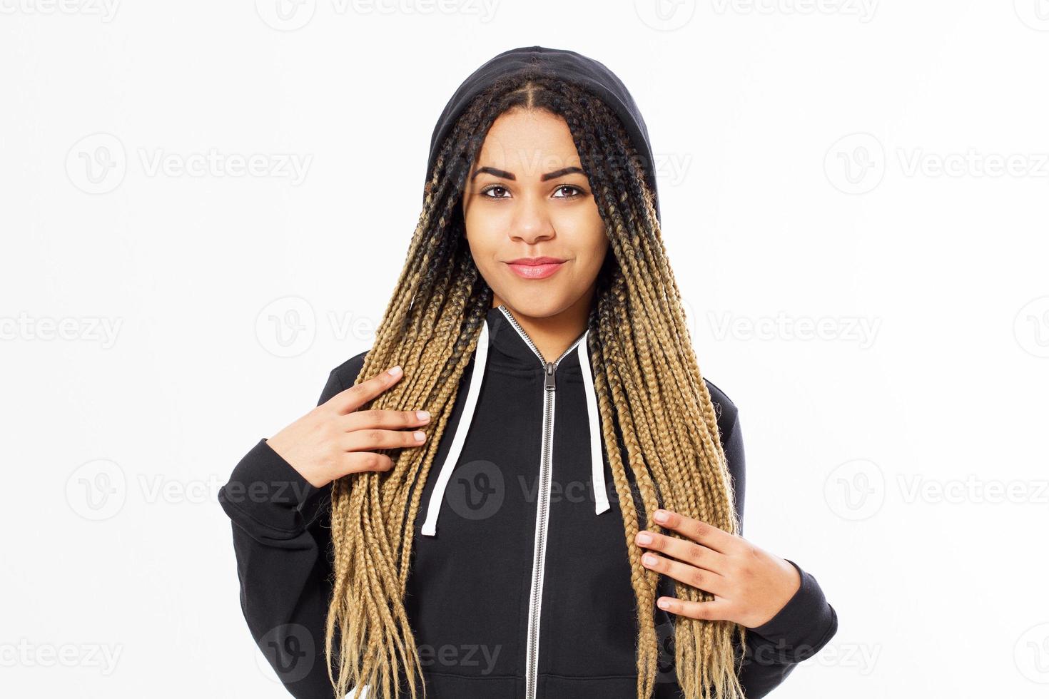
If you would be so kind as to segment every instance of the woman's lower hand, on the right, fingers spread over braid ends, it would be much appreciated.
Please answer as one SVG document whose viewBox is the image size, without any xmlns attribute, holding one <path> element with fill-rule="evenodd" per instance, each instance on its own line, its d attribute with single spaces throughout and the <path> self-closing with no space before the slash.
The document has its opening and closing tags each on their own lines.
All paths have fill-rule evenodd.
<svg viewBox="0 0 1049 699">
<path fill-rule="evenodd" d="M 743 537 L 668 509 L 656 510 L 652 519 L 687 541 L 639 531 L 637 544 L 652 549 L 641 556 L 642 564 L 714 595 L 710 602 L 660 597 L 660 609 L 694 619 L 734 621 L 752 629 L 775 616 L 801 586 L 801 577 L 789 561 Z"/>
</svg>

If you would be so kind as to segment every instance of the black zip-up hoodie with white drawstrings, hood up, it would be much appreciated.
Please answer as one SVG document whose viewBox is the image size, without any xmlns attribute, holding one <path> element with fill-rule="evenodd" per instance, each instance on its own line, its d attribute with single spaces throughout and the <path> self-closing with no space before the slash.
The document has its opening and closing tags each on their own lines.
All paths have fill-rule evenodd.
<svg viewBox="0 0 1049 699">
<path fill-rule="evenodd" d="M 434 130 L 431 165 L 469 96 L 509 70 L 537 68 L 579 80 L 614 103 L 639 153 L 650 156 L 641 115 L 613 73 L 578 53 L 535 46 L 500 53 L 467 79 Z M 365 354 L 331 370 L 318 405 L 354 385 Z M 706 384 L 742 521 L 738 413 Z M 405 604 L 430 699 L 635 699 L 636 600 L 598 424 L 586 332 L 547 362 L 508 308 L 492 308 L 414 524 Z M 628 482 L 640 509 L 633 476 Z M 312 487 L 265 439 L 218 495 L 232 520 L 248 626 L 299 698 L 334 696 L 323 655 L 329 498 L 330 485 Z M 749 699 L 768 694 L 837 630 L 816 580 L 791 563 L 800 588 L 736 649 Z M 675 596 L 673 581 L 660 575 L 659 594 Z M 654 696 L 681 697 L 673 615 L 654 613 L 661 646 Z"/>
</svg>

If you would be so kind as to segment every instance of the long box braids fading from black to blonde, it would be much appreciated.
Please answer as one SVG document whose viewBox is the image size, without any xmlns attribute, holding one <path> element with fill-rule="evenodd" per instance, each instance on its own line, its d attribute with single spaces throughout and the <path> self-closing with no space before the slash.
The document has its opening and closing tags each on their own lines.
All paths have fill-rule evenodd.
<svg viewBox="0 0 1049 699">
<path fill-rule="evenodd" d="M 365 684 L 369 699 L 399 697 L 405 678 L 411 699 L 426 694 L 425 683 L 416 684 L 421 661 L 404 606 L 414 522 L 461 378 L 492 306 L 492 290 L 464 235 L 461 196 L 492 123 L 514 108 L 542 109 L 565 119 L 611 242 L 587 346 L 637 599 L 639 699 L 651 697 L 659 670 L 654 616 L 659 573 L 641 565 L 635 536 L 642 528 L 661 530 L 649 519 L 659 507 L 740 530 L 716 415 L 643 163 L 622 125 L 594 94 L 534 70 L 507 75 L 471 102 L 442 145 L 404 268 L 357 379 L 400 364 L 404 379 L 366 408 L 424 408 L 433 418 L 426 445 L 389 451 L 391 471 L 333 483 L 334 592 L 325 655 L 338 697 Z M 675 594 L 713 598 L 679 582 Z M 740 625 L 675 619 L 675 669 L 686 699 L 742 699 L 735 633 L 742 642 Z M 357 690 L 352 696 L 359 696 Z"/>
</svg>

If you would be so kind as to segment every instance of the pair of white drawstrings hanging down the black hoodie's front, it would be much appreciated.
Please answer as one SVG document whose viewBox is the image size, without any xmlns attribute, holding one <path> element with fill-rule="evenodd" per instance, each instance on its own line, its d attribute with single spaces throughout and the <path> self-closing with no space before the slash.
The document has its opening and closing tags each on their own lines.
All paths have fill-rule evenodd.
<svg viewBox="0 0 1049 699">
<path fill-rule="evenodd" d="M 608 494 L 604 481 L 604 458 L 601 455 L 601 433 L 598 424 L 597 394 L 594 391 L 594 377 L 591 374 L 590 358 L 586 354 L 586 335 L 590 329 L 583 333 L 579 342 L 579 367 L 583 374 L 583 387 L 586 392 L 586 417 L 590 425 L 591 444 L 591 481 L 594 485 L 594 514 L 600 515 L 608 509 Z M 473 374 L 470 376 L 470 388 L 467 390 L 466 405 L 463 407 L 463 415 L 455 427 L 455 434 L 452 436 L 452 444 L 448 450 L 448 456 L 441 465 L 441 473 L 437 475 L 437 482 L 430 494 L 430 502 L 426 508 L 426 520 L 423 522 L 422 533 L 426 537 L 433 537 L 437 532 L 437 516 L 441 512 L 441 504 L 445 499 L 445 490 L 448 488 L 448 481 L 451 480 L 452 471 L 458 462 L 463 453 L 463 443 L 466 441 L 466 434 L 470 430 L 470 422 L 473 421 L 473 411 L 477 406 L 477 394 L 480 393 L 480 383 L 485 376 L 485 365 L 488 362 L 488 323 L 480 326 L 480 337 L 477 340 L 477 349 L 474 350 Z"/>
</svg>

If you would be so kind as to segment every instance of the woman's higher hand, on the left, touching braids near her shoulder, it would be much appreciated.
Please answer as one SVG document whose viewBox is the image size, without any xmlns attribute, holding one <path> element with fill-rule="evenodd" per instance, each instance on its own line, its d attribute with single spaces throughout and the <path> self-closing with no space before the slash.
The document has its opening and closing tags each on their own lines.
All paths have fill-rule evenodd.
<svg viewBox="0 0 1049 699">
<path fill-rule="evenodd" d="M 403 375 L 401 367 L 393 367 L 351 386 L 292 422 L 266 443 L 316 488 L 347 474 L 389 471 L 393 460 L 370 450 L 425 444 L 425 432 L 405 429 L 427 424 L 430 416 L 426 411 L 359 411 L 358 408 L 397 384 Z M 420 417 L 421 414 L 425 417 Z"/>
</svg>

